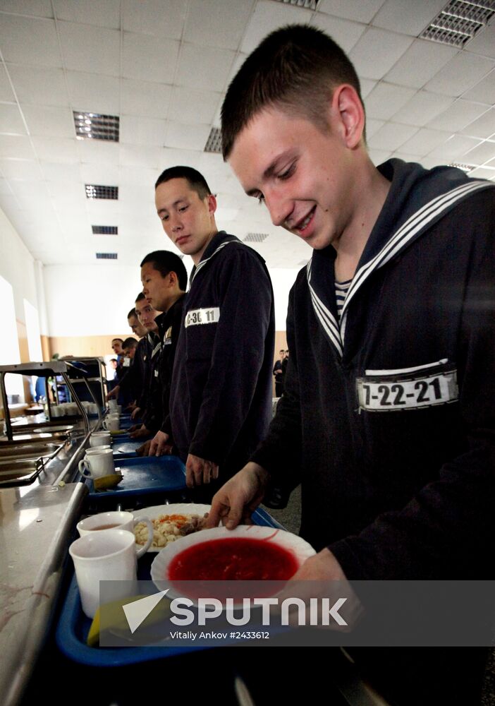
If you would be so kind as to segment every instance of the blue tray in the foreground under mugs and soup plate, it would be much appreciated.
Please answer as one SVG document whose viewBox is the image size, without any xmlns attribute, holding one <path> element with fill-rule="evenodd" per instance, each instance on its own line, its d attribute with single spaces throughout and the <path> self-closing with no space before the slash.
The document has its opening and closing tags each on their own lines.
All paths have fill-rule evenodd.
<svg viewBox="0 0 495 706">
<path fill-rule="evenodd" d="M 258 508 L 252 513 L 252 521 L 255 522 L 255 525 L 284 529 L 283 525 L 280 525 L 262 508 Z M 139 559 L 138 578 L 140 580 L 150 580 L 149 570 L 155 556 L 157 555 L 154 552 L 148 552 Z M 154 647 L 89 647 L 86 640 L 91 623 L 90 618 L 87 618 L 82 612 L 78 583 L 73 575 L 56 627 L 56 643 L 59 650 L 69 659 L 90 666 L 125 666 L 162 657 L 173 657 L 184 652 L 212 649 L 211 647 L 199 646 L 161 647 L 161 645 Z"/>
</svg>

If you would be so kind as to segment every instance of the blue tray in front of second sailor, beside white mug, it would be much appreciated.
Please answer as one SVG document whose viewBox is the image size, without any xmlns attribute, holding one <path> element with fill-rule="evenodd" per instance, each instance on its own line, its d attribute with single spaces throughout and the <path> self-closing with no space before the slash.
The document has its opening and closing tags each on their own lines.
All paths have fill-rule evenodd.
<svg viewBox="0 0 495 706">
<path fill-rule="evenodd" d="M 118 499 L 130 495 L 185 489 L 185 466 L 178 456 L 122 458 L 116 463 L 116 468 L 121 469 L 123 480 L 115 488 L 95 491 L 92 479 L 85 479 L 90 498 Z"/>
</svg>

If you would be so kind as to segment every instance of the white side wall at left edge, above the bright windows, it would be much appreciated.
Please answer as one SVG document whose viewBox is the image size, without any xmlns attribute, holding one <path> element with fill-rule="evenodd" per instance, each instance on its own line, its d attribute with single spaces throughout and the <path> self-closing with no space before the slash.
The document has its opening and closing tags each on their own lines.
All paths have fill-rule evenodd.
<svg viewBox="0 0 495 706">
<path fill-rule="evenodd" d="M 38 308 L 35 260 L 1 208 L 0 275 L 12 285 L 16 318 L 25 323 L 24 299 Z"/>
</svg>

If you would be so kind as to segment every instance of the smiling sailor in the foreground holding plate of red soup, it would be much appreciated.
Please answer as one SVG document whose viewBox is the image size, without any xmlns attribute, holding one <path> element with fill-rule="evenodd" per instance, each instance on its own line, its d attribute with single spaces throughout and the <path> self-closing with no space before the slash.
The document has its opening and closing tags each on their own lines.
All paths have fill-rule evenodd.
<svg viewBox="0 0 495 706">
<path fill-rule="evenodd" d="M 222 138 L 245 192 L 314 251 L 290 294 L 276 416 L 209 526 L 235 527 L 269 484 L 301 482 L 301 535 L 321 551 L 296 579 L 493 578 L 494 184 L 374 167 L 355 69 L 305 25 L 247 57 Z M 484 663 L 466 652 L 377 662 L 394 704 L 466 705 Z M 463 679 L 449 683 L 442 670 L 458 663 Z"/>
</svg>

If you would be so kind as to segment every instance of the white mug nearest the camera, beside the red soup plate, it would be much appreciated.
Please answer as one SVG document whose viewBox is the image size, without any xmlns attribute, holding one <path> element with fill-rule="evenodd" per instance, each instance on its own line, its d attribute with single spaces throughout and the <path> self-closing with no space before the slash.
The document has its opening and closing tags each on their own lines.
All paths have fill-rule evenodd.
<svg viewBox="0 0 495 706">
<path fill-rule="evenodd" d="M 133 532 L 90 532 L 69 546 L 69 554 L 88 618 L 94 618 L 99 606 L 100 581 L 123 581 L 122 597 L 133 594 L 138 556 Z"/>
</svg>

